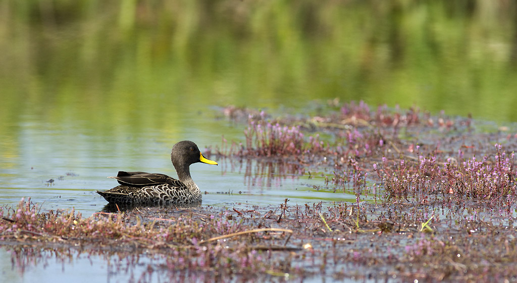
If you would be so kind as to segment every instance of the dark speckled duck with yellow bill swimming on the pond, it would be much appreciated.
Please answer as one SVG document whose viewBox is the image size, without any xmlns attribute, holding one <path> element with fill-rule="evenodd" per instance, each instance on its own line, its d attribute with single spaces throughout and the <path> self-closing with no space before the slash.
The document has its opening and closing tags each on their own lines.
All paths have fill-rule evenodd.
<svg viewBox="0 0 517 283">
<path fill-rule="evenodd" d="M 190 165 L 203 162 L 217 165 L 203 156 L 194 142 L 180 141 L 172 147 L 171 161 L 178 178 L 165 174 L 119 171 L 114 178 L 120 185 L 97 191 L 110 204 L 170 205 L 201 203 L 201 190 L 190 176 Z"/>
</svg>

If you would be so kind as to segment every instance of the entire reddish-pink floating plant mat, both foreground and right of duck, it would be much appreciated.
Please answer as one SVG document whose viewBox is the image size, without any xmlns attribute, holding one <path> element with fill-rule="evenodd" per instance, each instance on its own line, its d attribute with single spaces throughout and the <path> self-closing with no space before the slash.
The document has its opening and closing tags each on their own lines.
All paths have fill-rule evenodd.
<svg viewBox="0 0 517 283">
<path fill-rule="evenodd" d="M 88 218 L 21 202 L 0 220 L 14 269 L 50 252 L 119 259 L 109 274 L 143 282 L 516 278 L 511 127 L 478 130 L 471 118 L 364 103 L 306 117 L 222 113 L 245 128 L 242 142 L 206 152 L 231 161 L 223 170 L 244 171 L 245 184 L 299 178 L 300 189 L 353 197 L 253 205 L 250 192 L 229 188 L 231 206 L 105 207 Z"/>
</svg>

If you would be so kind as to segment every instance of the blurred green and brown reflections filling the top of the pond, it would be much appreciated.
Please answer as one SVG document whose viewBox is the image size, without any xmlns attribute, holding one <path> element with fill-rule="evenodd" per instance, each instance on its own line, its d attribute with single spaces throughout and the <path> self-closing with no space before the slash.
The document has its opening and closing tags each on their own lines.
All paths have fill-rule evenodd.
<svg viewBox="0 0 517 283">
<path fill-rule="evenodd" d="M 514 122 L 517 4 L 1 0 L 0 92 L 3 136 L 209 131 L 207 107 L 334 97 Z"/>
</svg>

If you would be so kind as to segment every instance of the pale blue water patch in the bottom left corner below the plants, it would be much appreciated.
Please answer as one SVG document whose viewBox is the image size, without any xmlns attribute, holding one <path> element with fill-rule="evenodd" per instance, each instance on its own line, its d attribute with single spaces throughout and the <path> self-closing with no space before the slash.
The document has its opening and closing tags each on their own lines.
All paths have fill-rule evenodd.
<svg viewBox="0 0 517 283">
<path fill-rule="evenodd" d="M 158 278 L 169 278 L 168 272 L 163 269 L 148 275 L 149 269 L 154 270 L 154 266 L 165 262 L 163 255 L 149 258 L 129 252 L 110 252 L 110 247 L 105 249 L 95 252 L 83 251 L 81 246 L 72 249 L 59 247 L 58 244 L 54 248 L 4 245 L 0 248 L 0 255 L 12 263 L 12 269 L 3 273 L 2 277 L 6 282 L 13 283 L 42 281 L 42 278 L 63 282 L 83 282 L 80 278 L 88 278 L 89 282 L 110 282 L 113 279 L 154 282 Z M 92 266 L 95 266 L 94 270 Z"/>
</svg>

